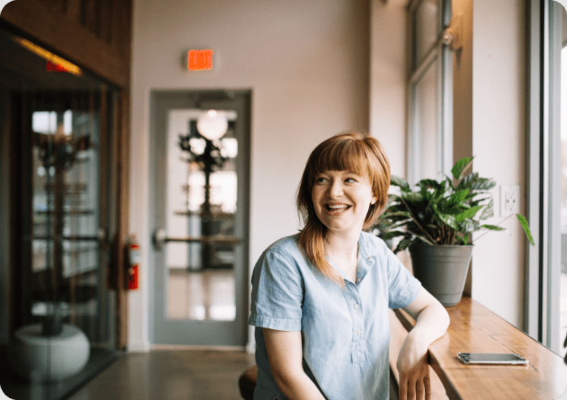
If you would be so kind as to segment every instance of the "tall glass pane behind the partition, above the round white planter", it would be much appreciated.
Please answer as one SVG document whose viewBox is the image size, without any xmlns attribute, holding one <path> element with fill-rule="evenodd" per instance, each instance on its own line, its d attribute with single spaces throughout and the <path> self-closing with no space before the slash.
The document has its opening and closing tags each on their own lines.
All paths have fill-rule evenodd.
<svg viewBox="0 0 567 400">
<path fill-rule="evenodd" d="M 88 110 L 32 112 L 32 272 L 54 269 L 48 298 L 33 300 L 32 315 L 56 312 L 73 325 L 98 312 L 98 124 Z"/>
</svg>

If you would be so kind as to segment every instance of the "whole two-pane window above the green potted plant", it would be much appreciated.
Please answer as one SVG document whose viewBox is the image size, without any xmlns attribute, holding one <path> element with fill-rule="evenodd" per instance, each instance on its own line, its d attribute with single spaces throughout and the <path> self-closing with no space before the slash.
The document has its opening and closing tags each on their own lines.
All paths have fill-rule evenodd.
<svg viewBox="0 0 567 400">
<path fill-rule="evenodd" d="M 452 167 L 452 57 L 443 44 L 450 0 L 409 5 L 408 181 L 449 174 Z"/>
</svg>

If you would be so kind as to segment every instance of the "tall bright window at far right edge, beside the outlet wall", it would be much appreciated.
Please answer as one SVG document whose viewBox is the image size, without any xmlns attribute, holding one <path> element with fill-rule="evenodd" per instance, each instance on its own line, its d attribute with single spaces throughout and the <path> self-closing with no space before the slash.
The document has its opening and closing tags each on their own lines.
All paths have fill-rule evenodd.
<svg viewBox="0 0 567 400">
<path fill-rule="evenodd" d="M 532 0 L 528 42 L 528 222 L 524 330 L 558 354 L 567 335 L 567 15 Z M 532 229 L 532 232 L 536 229 Z"/>
</svg>

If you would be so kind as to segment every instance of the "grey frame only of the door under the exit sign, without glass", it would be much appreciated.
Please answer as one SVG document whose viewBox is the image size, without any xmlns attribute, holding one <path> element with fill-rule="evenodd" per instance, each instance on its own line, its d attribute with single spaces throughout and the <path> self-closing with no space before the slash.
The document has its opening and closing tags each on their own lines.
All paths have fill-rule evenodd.
<svg viewBox="0 0 567 400">
<path fill-rule="evenodd" d="M 236 246 L 235 264 L 235 306 L 236 317 L 234 321 L 196 321 L 196 320 L 168 320 L 166 302 L 163 294 L 166 293 L 166 281 L 163 267 L 163 251 L 155 250 L 149 243 L 149 323 L 152 327 L 149 339 L 152 346 L 183 345 L 183 346 L 238 346 L 244 347 L 248 342 L 248 279 L 249 279 L 249 182 L 250 182 L 250 131 L 251 131 L 251 96 L 250 90 L 154 90 L 150 94 L 150 232 L 163 227 L 165 216 L 163 214 L 163 200 L 158 199 L 158 193 L 165 188 L 163 179 L 158 179 L 158 171 L 165 169 L 166 157 L 158 149 L 164 146 L 160 143 L 159 132 L 167 127 L 167 114 L 171 109 L 200 108 L 197 102 L 223 102 L 225 109 L 236 110 L 238 122 L 242 121 L 240 128 L 236 128 L 239 154 L 248 156 L 238 157 L 236 160 L 239 176 L 237 192 L 236 235 L 240 244 Z M 237 123 L 238 125 L 238 123 Z M 242 177 L 242 178 L 241 178 Z M 242 182 L 241 182 L 242 180 Z M 161 213 L 161 214 L 160 214 Z M 161 291 L 161 292 L 160 292 Z M 160 312 L 160 308 L 161 312 Z M 191 322 L 188 322 L 191 321 Z M 169 327 L 166 328 L 166 324 Z M 191 325 L 188 325 L 191 324 Z M 166 329 L 164 329 L 166 328 Z M 226 329 L 229 328 L 229 329 Z M 176 332 L 166 332 L 167 330 Z M 179 332 L 183 334 L 179 334 Z M 191 337 L 191 342 L 188 338 Z"/>
</svg>

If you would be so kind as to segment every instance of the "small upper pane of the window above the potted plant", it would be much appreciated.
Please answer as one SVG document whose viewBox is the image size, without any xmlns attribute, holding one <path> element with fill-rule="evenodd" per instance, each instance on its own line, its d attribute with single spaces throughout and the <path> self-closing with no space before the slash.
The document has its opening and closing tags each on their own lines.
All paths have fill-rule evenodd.
<svg viewBox="0 0 567 400">
<path fill-rule="evenodd" d="M 439 7 L 437 0 L 423 0 L 414 15 L 416 29 L 416 62 L 422 61 L 437 41 Z"/>
</svg>

